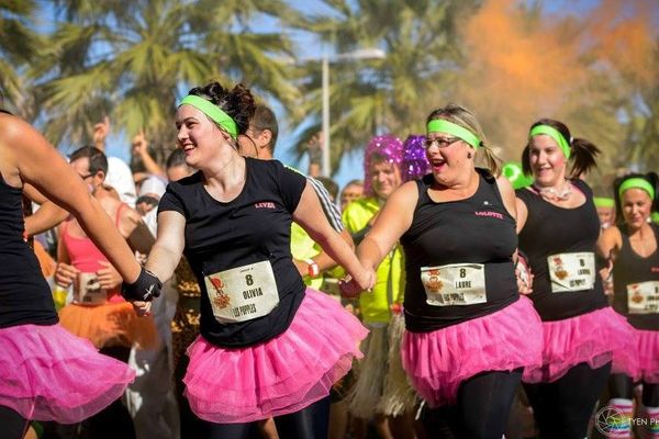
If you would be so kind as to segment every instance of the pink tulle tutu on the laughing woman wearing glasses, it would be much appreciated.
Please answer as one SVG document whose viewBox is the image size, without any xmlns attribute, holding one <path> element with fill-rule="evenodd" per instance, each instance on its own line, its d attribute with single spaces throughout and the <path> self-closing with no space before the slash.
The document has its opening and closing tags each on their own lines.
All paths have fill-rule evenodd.
<svg viewBox="0 0 659 439">
<path fill-rule="evenodd" d="M 456 403 L 460 383 L 480 372 L 537 367 L 543 327 L 527 297 L 495 313 L 432 333 L 405 331 L 403 368 L 431 407 Z"/>
</svg>

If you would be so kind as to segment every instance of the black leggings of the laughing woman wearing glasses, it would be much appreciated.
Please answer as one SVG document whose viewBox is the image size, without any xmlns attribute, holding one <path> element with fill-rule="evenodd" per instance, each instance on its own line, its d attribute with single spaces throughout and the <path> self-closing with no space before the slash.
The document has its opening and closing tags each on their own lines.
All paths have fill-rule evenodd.
<svg viewBox="0 0 659 439">
<path fill-rule="evenodd" d="M 482 372 L 460 384 L 457 404 L 428 409 L 423 425 L 432 438 L 501 439 L 522 369 Z"/>
</svg>

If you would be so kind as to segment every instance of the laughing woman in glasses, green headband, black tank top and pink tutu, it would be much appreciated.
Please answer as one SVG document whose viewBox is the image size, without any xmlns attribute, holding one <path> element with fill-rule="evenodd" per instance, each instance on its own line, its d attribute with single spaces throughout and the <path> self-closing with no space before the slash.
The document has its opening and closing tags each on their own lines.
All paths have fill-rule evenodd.
<svg viewBox="0 0 659 439">
<path fill-rule="evenodd" d="M 541 351 L 515 278 L 515 196 L 470 111 L 451 104 L 426 124 L 432 173 L 388 199 L 357 255 L 372 269 L 403 246 L 402 361 L 431 407 L 428 435 L 445 421 L 459 438 L 500 439 L 522 370 Z M 480 155 L 488 169 L 476 167 Z"/>
</svg>

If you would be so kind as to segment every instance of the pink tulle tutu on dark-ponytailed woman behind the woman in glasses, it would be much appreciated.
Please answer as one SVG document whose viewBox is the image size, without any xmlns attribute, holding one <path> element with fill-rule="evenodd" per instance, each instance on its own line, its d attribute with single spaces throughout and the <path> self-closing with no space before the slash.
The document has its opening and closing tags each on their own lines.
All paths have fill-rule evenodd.
<svg viewBox="0 0 659 439">
<path fill-rule="evenodd" d="M 579 363 L 597 369 L 613 352 L 630 349 L 634 328 L 611 306 L 562 320 L 543 322 L 543 365 L 525 369 L 526 383 L 550 383 Z"/>
</svg>

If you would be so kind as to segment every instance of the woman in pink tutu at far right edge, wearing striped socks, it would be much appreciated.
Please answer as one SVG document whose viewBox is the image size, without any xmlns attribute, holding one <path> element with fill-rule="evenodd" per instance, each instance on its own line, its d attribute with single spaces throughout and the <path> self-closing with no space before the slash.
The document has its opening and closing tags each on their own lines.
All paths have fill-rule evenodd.
<svg viewBox="0 0 659 439">
<path fill-rule="evenodd" d="M 634 385 L 643 383 L 638 435 L 659 438 L 659 227 L 649 222 L 659 209 L 655 172 L 630 173 L 614 183 L 618 222 L 604 230 L 599 251 L 613 260 L 615 311 L 634 327 L 635 342 L 613 356 L 608 406 L 633 415 Z M 654 207 L 654 209 L 652 209 Z M 632 435 L 629 420 L 617 426 L 616 438 Z"/>
</svg>

